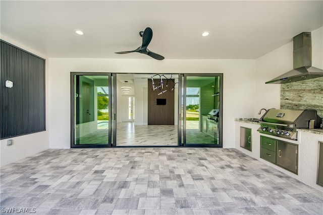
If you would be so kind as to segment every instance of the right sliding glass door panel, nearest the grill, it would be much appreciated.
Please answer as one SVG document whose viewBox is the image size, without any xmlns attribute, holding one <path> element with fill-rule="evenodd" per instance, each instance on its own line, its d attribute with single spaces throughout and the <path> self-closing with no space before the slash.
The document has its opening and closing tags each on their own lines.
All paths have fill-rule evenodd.
<svg viewBox="0 0 323 215">
<path fill-rule="evenodd" d="M 182 145 L 222 147 L 222 74 L 185 74 Z"/>
</svg>

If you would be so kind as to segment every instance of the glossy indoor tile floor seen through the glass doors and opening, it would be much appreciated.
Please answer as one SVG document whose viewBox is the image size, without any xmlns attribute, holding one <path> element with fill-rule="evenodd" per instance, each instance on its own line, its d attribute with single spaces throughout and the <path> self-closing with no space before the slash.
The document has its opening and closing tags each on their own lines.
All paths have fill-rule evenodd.
<svg viewBox="0 0 323 215">
<path fill-rule="evenodd" d="M 188 144 L 219 144 L 219 139 L 199 129 L 198 121 L 187 121 Z M 109 130 L 97 129 L 79 138 L 79 144 L 107 144 Z M 135 125 L 133 122 L 117 124 L 117 146 L 177 146 L 178 125 Z"/>
</svg>

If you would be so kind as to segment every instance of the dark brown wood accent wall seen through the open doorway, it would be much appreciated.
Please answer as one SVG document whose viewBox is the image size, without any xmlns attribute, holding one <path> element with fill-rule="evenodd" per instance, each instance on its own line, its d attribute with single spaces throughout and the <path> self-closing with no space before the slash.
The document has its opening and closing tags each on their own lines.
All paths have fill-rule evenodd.
<svg viewBox="0 0 323 215">
<path fill-rule="evenodd" d="M 154 83 L 160 82 L 159 79 L 154 79 Z M 151 79 L 148 79 L 148 125 L 174 125 L 174 91 L 173 86 L 164 85 L 163 91 L 153 91 Z M 166 99 L 166 105 L 156 105 L 157 99 Z"/>
</svg>

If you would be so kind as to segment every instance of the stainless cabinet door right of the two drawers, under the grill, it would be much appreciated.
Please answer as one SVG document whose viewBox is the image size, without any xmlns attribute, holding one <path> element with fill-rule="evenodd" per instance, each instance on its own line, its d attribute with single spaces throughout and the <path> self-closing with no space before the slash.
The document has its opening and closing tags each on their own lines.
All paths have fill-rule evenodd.
<svg viewBox="0 0 323 215">
<path fill-rule="evenodd" d="M 298 146 L 277 141 L 277 165 L 297 174 Z"/>
</svg>

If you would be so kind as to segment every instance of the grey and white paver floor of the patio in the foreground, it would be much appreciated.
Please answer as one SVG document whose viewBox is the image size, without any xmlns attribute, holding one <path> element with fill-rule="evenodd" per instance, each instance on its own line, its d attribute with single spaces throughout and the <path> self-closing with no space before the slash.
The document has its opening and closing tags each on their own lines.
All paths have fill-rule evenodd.
<svg viewBox="0 0 323 215">
<path fill-rule="evenodd" d="M 1 169 L 0 203 L 2 213 L 322 214 L 323 193 L 235 149 L 50 149 Z"/>
</svg>

